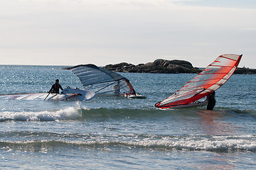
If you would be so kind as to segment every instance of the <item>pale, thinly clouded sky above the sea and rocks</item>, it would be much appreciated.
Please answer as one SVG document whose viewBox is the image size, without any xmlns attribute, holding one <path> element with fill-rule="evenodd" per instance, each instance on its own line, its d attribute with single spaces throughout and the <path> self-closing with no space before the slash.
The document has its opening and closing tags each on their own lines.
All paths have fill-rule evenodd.
<svg viewBox="0 0 256 170">
<path fill-rule="evenodd" d="M 256 69 L 255 0 L 1 0 L 0 64 L 105 66 L 156 59 Z"/>
</svg>

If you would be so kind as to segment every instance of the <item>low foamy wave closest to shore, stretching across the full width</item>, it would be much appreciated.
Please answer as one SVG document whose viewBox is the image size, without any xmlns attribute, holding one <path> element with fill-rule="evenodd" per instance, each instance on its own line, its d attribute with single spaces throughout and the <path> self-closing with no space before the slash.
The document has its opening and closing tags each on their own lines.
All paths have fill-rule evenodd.
<svg viewBox="0 0 256 170">
<path fill-rule="evenodd" d="M 129 141 L 122 141 L 122 137 Z M 117 139 L 102 139 L 86 141 L 68 140 L 26 140 L 26 141 L 1 141 L 1 149 L 4 150 L 26 150 L 31 152 L 51 152 L 53 149 L 78 147 L 80 150 L 97 149 L 156 149 L 163 151 L 209 151 L 209 152 L 235 152 L 249 151 L 256 152 L 255 135 L 247 136 L 151 136 L 151 135 L 119 135 Z"/>
</svg>

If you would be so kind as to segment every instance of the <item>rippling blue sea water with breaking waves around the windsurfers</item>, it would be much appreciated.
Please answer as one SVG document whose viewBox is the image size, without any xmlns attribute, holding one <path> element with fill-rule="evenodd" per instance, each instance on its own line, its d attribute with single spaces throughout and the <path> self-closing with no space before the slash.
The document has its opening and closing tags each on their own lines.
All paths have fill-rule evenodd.
<svg viewBox="0 0 256 170">
<path fill-rule="evenodd" d="M 82 89 L 60 68 L 0 65 L 0 94 Z M 146 99 L 0 100 L 0 169 L 256 169 L 256 75 L 234 74 L 206 111 L 154 108 L 195 74 L 120 74 Z"/>
</svg>

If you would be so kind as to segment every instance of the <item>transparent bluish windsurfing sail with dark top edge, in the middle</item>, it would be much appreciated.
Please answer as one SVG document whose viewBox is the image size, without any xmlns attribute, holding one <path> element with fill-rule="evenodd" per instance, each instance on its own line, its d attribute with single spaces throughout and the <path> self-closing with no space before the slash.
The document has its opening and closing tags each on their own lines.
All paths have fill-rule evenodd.
<svg viewBox="0 0 256 170">
<path fill-rule="evenodd" d="M 120 74 L 108 69 L 97 67 L 94 64 L 83 64 L 70 68 L 79 77 L 87 91 L 95 94 L 135 94 L 132 84 Z"/>
</svg>

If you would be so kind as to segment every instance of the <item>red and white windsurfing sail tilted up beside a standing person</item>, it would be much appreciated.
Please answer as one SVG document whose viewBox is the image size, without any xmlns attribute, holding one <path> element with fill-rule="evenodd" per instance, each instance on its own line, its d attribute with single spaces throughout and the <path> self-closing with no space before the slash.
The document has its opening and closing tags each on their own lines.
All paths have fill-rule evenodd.
<svg viewBox="0 0 256 170">
<path fill-rule="evenodd" d="M 241 57 L 242 55 L 220 55 L 203 72 L 155 106 L 157 108 L 190 106 L 193 102 L 206 97 L 228 81 L 238 67 Z"/>
</svg>

